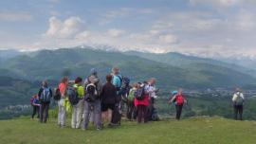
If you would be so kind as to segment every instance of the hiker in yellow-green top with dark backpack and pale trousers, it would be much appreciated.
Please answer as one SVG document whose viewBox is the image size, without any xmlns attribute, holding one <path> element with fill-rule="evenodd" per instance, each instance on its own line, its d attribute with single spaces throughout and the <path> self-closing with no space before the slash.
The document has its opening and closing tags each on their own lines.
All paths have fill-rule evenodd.
<svg viewBox="0 0 256 144">
<path fill-rule="evenodd" d="M 73 105 L 73 112 L 72 112 L 72 120 L 71 120 L 71 128 L 79 129 L 82 123 L 82 113 L 84 109 L 84 88 L 82 86 L 82 78 L 78 77 L 75 80 L 75 84 L 73 85 L 73 100 L 71 104 Z M 74 96 L 77 95 L 77 96 Z"/>
</svg>

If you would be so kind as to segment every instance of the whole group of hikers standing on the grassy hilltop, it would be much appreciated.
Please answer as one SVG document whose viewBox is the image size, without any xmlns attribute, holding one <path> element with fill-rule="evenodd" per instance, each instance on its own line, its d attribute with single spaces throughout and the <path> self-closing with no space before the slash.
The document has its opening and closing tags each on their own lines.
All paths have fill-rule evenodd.
<svg viewBox="0 0 256 144">
<path fill-rule="evenodd" d="M 82 81 L 77 77 L 69 81 L 64 77 L 59 86 L 54 90 L 48 86 L 47 81 L 42 82 L 42 87 L 37 95 L 30 99 L 33 107 L 32 117 L 38 113 L 40 122 L 46 123 L 51 99 L 58 101 L 58 125 L 65 127 L 66 114 L 72 111 L 71 127 L 73 129 L 87 130 L 92 122 L 97 130 L 104 126 L 119 126 L 121 117 L 126 110 L 129 120 L 137 123 L 147 123 L 150 120 L 159 120 L 155 109 L 156 93 L 155 78 L 148 81 L 130 84 L 130 79 L 122 77 L 119 67 L 113 67 L 112 72 L 105 77 L 103 84 L 98 77 L 97 69 L 90 70 L 90 75 Z M 234 103 L 235 119 L 242 120 L 244 95 L 239 88 L 232 98 Z M 175 104 L 176 119 L 179 120 L 183 105 L 188 100 L 182 89 L 173 91 L 169 103 Z"/>
</svg>

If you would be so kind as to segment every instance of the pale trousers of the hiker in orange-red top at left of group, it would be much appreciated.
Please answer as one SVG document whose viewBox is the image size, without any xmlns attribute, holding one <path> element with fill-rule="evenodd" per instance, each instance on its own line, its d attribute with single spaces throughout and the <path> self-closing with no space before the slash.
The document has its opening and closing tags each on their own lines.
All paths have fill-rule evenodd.
<svg viewBox="0 0 256 144">
<path fill-rule="evenodd" d="M 60 99 L 58 102 L 59 113 L 58 113 L 58 125 L 63 127 L 65 125 L 66 110 L 64 107 L 64 99 Z"/>
</svg>

